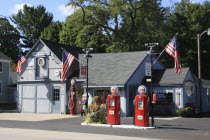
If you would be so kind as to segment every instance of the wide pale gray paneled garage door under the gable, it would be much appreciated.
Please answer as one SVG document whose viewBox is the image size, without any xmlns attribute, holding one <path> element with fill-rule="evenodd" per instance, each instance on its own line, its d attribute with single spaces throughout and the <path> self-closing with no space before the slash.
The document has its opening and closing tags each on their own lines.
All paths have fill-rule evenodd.
<svg viewBox="0 0 210 140">
<path fill-rule="evenodd" d="M 22 112 L 50 113 L 50 86 L 24 85 L 22 87 Z"/>
</svg>

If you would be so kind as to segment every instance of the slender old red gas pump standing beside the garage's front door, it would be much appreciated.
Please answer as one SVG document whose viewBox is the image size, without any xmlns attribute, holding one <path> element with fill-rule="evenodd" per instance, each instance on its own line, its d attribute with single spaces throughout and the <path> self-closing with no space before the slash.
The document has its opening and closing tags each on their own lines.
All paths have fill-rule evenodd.
<svg viewBox="0 0 210 140">
<path fill-rule="evenodd" d="M 76 80 L 71 80 L 71 88 L 70 88 L 70 99 L 69 99 L 69 109 L 70 109 L 70 115 L 76 114 Z"/>
</svg>

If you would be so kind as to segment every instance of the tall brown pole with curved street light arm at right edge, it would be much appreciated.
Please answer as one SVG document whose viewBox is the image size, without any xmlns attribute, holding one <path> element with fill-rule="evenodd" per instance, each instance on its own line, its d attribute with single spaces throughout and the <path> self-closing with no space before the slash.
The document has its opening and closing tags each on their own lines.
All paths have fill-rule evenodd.
<svg viewBox="0 0 210 140">
<path fill-rule="evenodd" d="M 201 91 L 201 56 L 200 56 L 200 39 L 204 33 L 210 35 L 210 28 L 208 30 L 202 32 L 201 34 L 197 34 L 197 44 L 198 44 L 198 84 L 199 84 L 199 94 L 200 94 L 200 113 L 202 113 L 202 91 Z"/>
</svg>

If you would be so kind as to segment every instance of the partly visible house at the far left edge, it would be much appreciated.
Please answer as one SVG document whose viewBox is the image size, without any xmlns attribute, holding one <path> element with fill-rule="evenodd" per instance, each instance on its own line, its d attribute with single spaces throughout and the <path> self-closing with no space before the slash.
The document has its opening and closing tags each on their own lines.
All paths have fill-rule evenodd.
<svg viewBox="0 0 210 140">
<path fill-rule="evenodd" d="M 11 59 L 0 52 L 0 103 L 9 102 L 10 62 Z"/>
</svg>

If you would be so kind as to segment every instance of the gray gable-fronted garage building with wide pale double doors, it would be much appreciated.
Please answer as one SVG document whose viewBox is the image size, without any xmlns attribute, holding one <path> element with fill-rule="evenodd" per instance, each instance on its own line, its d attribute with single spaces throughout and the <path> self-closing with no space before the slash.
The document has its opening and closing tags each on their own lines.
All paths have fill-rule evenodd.
<svg viewBox="0 0 210 140">
<path fill-rule="evenodd" d="M 68 110 L 69 79 L 78 77 L 74 61 L 68 78 L 61 82 L 62 48 L 75 57 L 81 48 L 39 39 L 25 56 L 22 74 L 17 82 L 17 110 L 24 113 L 65 114 Z"/>
</svg>

